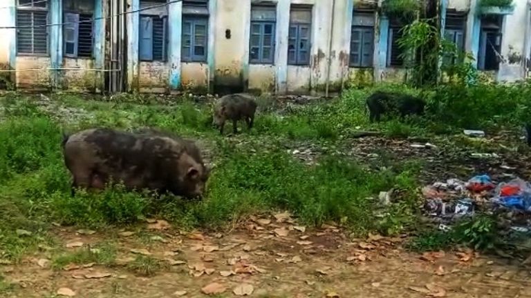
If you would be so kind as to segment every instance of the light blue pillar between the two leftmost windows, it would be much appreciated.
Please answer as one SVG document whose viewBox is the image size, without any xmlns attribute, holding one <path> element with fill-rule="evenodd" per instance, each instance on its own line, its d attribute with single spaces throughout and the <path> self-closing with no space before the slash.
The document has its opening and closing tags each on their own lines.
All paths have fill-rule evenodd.
<svg viewBox="0 0 531 298">
<path fill-rule="evenodd" d="M 48 8 L 50 23 L 50 61 L 51 70 L 50 77 L 52 79 L 53 88 L 62 87 L 62 70 L 57 68 L 63 67 L 63 26 L 58 25 L 63 22 L 63 1 L 50 0 L 50 7 Z"/>
</svg>

